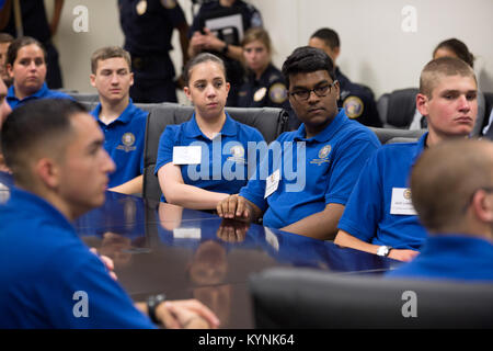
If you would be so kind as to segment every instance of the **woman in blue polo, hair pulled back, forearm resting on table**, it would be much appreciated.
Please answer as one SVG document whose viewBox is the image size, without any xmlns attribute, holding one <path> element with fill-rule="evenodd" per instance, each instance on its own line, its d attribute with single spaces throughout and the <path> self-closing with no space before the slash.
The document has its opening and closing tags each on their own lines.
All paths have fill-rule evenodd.
<svg viewBox="0 0 493 351">
<path fill-rule="evenodd" d="M 184 79 L 184 91 L 195 112 L 188 122 L 164 129 L 154 173 L 162 201 L 214 210 L 219 201 L 246 184 L 248 174 L 254 171 L 250 168 L 257 161 L 249 159 L 249 141 L 255 147 L 263 137 L 225 111 L 230 84 L 220 58 L 199 54 L 188 61 Z"/>
</svg>

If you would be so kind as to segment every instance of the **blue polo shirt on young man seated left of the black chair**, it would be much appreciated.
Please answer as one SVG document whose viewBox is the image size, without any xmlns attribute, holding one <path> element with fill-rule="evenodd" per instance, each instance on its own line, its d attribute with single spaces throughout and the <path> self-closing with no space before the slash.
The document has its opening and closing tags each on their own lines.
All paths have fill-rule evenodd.
<svg viewBox="0 0 493 351">
<path fill-rule="evenodd" d="M 91 112 L 104 133 L 104 149 L 116 165 L 110 174 L 108 186 L 117 186 L 144 172 L 144 144 L 148 113 L 138 109 L 131 99 L 118 118 L 108 125 L 100 121 L 101 103 Z"/>
</svg>

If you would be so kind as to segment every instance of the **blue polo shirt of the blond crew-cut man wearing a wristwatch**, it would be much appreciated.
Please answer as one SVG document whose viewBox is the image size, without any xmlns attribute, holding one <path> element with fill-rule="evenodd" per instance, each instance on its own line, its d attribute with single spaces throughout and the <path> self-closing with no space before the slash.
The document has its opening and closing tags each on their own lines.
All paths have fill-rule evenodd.
<svg viewBox="0 0 493 351">
<path fill-rule="evenodd" d="M 393 188 L 409 188 L 411 168 L 425 147 L 417 143 L 385 145 L 368 160 L 354 186 L 339 228 L 374 245 L 417 250 L 426 231 L 416 215 L 390 214 Z"/>
</svg>

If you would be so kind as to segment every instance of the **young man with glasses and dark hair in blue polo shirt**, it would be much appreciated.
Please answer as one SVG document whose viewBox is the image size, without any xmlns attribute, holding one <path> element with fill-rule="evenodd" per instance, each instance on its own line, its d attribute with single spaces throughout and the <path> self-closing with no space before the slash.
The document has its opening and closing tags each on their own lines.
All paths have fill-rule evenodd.
<svg viewBox="0 0 493 351">
<path fill-rule="evenodd" d="M 283 75 L 302 124 L 270 145 L 254 177 L 217 211 L 221 217 L 246 220 L 263 215 L 264 226 L 333 239 L 359 171 L 380 143 L 337 109 L 340 87 L 324 52 L 295 49 Z"/>
</svg>

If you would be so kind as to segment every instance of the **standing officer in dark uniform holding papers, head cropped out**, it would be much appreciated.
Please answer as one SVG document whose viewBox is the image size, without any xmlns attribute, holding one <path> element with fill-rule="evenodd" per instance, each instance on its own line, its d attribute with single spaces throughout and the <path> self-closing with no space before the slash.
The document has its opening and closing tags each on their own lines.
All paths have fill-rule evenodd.
<svg viewBox="0 0 493 351">
<path fill-rule="evenodd" d="M 225 61 L 227 79 L 231 83 L 227 101 L 229 106 L 238 105 L 238 88 L 241 86 L 244 75 L 241 65 L 243 55 L 240 46 L 241 33 L 237 29 L 210 31 L 206 27 L 206 20 L 225 18 L 236 13 L 241 14 L 243 33 L 251 27 L 262 26 L 261 14 L 253 5 L 242 0 L 218 0 L 208 1 L 199 8 L 190 31 L 190 56 L 195 56 L 202 52 L 211 52 Z"/>
</svg>

